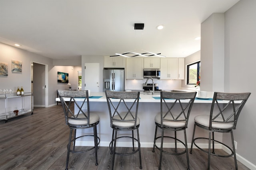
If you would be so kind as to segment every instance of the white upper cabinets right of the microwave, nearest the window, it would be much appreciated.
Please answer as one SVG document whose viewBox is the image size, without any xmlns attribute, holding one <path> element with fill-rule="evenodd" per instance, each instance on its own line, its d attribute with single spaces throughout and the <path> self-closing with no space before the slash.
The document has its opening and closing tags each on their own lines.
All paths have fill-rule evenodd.
<svg viewBox="0 0 256 170">
<path fill-rule="evenodd" d="M 184 58 L 164 58 L 160 59 L 161 76 L 165 80 L 184 79 Z"/>
</svg>

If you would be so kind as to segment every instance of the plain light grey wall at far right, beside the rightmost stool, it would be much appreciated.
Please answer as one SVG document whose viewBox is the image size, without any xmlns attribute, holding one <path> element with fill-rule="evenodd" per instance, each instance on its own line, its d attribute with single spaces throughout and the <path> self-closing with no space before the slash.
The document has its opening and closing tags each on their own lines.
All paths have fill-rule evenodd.
<svg viewBox="0 0 256 170">
<path fill-rule="evenodd" d="M 256 164 L 256 1 L 240 0 L 225 13 L 225 80 L 228 92 L 252 92 L 239 117 L 234 140 L 237 153 Z M 228 141 L 229 135 L 224 135 Z"/>
</svg>

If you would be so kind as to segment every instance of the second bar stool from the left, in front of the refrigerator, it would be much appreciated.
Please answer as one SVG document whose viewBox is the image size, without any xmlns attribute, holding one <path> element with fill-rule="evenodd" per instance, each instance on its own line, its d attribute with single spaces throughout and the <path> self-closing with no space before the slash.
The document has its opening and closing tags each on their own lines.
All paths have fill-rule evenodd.
<svg viewBox="0 0 256 170">
<path fill-rule="evenodd" d="M 140 153 L 140 137 L 139 126 L 140 118 L 138 115 L 138 105 L 140 92 L 113 92 L 105 91 L 110 115 L 110 127 L 112 131 L 112 141 L 110 142 L 110 154 L 112 154 L 112 170 L 114 169 L 115 155 L 131 155 L 139 152 L 140 169 L 141 153 Z M 137 132 L 137 138 L 134 137 L 134 130 Z M 117 136 L 118 131 L 132 131 L 132 136 Z M 132 152 L 119 153 L 116 152 L 116 142 L 120 138 L 132 139 Z M 134 140 L 138 142 L 138 149 L 134 149 Z"/>
</svg>

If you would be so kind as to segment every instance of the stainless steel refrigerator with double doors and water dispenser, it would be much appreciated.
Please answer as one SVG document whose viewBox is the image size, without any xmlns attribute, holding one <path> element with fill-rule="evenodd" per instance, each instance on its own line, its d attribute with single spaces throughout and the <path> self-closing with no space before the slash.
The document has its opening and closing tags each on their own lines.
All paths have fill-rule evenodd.
<svg viewBox="0 0 256 170">
<path fill-rule="evenodd" d="M 124 68 L 104 68 L 103 79 L 104 92 L 105 90 L 124 92 Z"/>
</svg>

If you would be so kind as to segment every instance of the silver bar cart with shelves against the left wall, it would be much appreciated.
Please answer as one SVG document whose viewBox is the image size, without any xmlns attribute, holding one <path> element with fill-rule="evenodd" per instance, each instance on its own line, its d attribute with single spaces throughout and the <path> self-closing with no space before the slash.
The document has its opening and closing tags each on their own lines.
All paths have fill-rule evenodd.
<svg viewBox="0 0 256 170">
<path fill-rule="evenodd" d="M 8 119 L 12 117 L 17 117 L 26 113 L 33 114 L 34 104 L 33 93 L 31 92 L 24 92 L 24 95 L 17 95 L 16 93 L 0 94 L 0 100 L 5 100 L 5 110 L 4 112 L 3 110 L 0 110 L 0 120 L 5 120 L 4 123 L 7 123 Z M 9 103 L 15 105 L 16 108 L 13 109 L 13 106 L 8 106 Z"/>
</svg>

